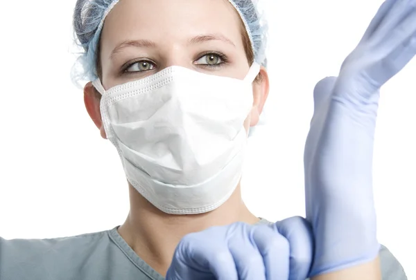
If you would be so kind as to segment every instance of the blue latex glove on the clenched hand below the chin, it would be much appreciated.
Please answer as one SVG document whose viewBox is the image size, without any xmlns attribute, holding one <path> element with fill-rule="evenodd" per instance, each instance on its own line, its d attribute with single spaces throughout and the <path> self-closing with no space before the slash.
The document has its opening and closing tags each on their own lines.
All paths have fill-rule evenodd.
<svg viewBox="0 0 416 280">
<path fill-rule="evenodd" d="M 304 218 L 272 226 L 234 223 L 184 236 L 166 280 L 305 280 L 312 255 Z"/>
</svg>

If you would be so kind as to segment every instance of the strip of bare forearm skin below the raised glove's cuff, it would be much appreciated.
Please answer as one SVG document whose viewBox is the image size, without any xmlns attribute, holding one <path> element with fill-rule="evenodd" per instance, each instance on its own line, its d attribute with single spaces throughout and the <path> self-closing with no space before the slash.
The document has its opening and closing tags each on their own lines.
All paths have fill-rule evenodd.
<svg viewBox="0 0 416 280">
<path fill-rule="evenodd" d="M 311 280 L 381 280 L 380 261 L 377 257 L 374 261 L 354 265 L 352 268 L 320 274 Z"/>
</svg>

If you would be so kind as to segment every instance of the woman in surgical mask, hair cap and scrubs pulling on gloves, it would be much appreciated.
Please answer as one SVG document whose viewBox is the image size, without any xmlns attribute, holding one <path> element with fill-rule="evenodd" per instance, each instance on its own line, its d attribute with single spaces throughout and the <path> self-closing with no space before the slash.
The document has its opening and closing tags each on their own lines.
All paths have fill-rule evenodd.
<svg viewBox="0 0 416 280">
<path fill-rule="evenodd" d="M 306 220 L 268 223 L 239 186 L 269 83 L 252 2 L 78 0 L 85 106 L 119 151 L 130 213 L 107 232 L 0 240 L 0 279 L 406 279 L 376 242 L 368 168 L 376 93 L 416 52 L 414 7 L 386 1 L 339 77 L 317 85 Z M 395 67 L 380 66 L 392 52 Z"/>
</svg>

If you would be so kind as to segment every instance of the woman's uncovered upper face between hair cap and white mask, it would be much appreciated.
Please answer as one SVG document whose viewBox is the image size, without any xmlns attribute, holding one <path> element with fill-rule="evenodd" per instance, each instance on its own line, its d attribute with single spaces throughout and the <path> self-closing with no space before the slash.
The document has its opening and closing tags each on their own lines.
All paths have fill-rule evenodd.
<svg viewBox="0 0 416 280">
<path fill-rule="evenodd" d="M 242 32 L 227 0 L 121 0 L 103 26 L 101 81 L 108 89 L 169 66 L 243 79 L 250 64 Z M 268 93 L 266 71 L 261 73 L 253 84 L 254 122 Z M 247 130 L 254 125 L 250 115 Z"/>
</svg>

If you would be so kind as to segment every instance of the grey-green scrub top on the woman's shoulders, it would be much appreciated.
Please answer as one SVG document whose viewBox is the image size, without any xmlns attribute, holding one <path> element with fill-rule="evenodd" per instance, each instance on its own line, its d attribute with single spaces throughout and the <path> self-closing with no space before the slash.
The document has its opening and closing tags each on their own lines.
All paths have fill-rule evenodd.
<svg viewBox="0 0 416 280">
<path fill-rule="evenodd" d="M 59 239 L 0 238 L 0 280 L 164 280 L 117 228 Z M 380 259 L 383 280 L 407 280 L 384 246 Z"/>
</svg>

